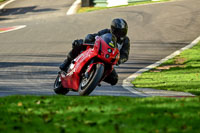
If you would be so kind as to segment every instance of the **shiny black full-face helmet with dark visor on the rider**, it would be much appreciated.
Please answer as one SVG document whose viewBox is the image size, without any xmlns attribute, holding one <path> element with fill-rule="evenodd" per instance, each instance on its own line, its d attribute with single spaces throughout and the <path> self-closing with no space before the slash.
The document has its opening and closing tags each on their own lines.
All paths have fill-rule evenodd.
<svg viewBox="0 0 200 133">
<path fill-rule="evenodd" d="M 113 19 L 111 23 L 111 33 L 114 34 L 117 39 L 123 40 L 128 31 L 128 25 L 124 19 Z"/>
</svg>

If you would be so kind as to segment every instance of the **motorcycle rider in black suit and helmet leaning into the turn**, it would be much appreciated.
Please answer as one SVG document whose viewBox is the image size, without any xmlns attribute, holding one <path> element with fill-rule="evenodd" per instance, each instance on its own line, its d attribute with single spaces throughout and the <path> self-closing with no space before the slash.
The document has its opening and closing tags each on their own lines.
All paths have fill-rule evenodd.
<svg viewBox="0 0 200 133">
<path fill-rule="evenodd" d="M 83 39 L 75 40 L 72 43 L 72 50 L 68 53 L 67 59 L 64 60 L 64 62 L 60 65 L 60 69 L 63 71 L 67 71 L 69 65 L 71 64 L 71 61 L 76 58 L 81 51 L 85 50 L 85 47 L 82 45 L 85 43 L 94 43 L 96 36 L 101 36 L 106 33 L 112 33 L 117 38 L 117 46 L 120 51 L 120 59 L 118 61 L 118 65 L 126 62 L 128 60 L 129 56 L 129 50 L 130 50 L 130 40 L 126 36 L 128 31 L 128 25 L 126 21 L 122 18 L 116 18 L 112 20 L 111 23 L 111 29 L 104 29 L 99 31 L 98 33 L 94 34 L 88 34 L 85 37 L 85 41 Z M 105 79 L 105 82 L 116 85 L 118 82 L 118 75 L 113 69 L 113 71 L 108 75 Z"/>
</svg>

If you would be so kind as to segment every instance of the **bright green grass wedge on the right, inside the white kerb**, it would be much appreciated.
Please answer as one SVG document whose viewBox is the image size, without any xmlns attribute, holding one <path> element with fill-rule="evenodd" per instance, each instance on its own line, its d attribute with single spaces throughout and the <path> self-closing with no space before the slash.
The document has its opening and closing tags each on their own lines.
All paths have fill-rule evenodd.
<svg viewBox="0 0 200 133">
<path fill-rule="evenodd" d="M 190 92 L 200 95 L 200 43 L 143 73 L 132 83 L 135 87 Z"/>
</svg>

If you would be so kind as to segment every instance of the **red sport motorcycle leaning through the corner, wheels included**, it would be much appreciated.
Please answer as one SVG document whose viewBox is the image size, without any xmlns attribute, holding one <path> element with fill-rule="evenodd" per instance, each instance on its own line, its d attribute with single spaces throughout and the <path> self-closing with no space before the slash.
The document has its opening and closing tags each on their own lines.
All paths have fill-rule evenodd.
<svg viewBox="0 0 200 133">
<path fill-rule="evenodd" d="M 89 95 L 113 70 L 119 60 L 115 37 L 110 34 L 97 36 L 70 64 L 67 72 L 60 71 L 54 83 L 54 92 L 65 95 L 69 91 Z"/>
</svg>

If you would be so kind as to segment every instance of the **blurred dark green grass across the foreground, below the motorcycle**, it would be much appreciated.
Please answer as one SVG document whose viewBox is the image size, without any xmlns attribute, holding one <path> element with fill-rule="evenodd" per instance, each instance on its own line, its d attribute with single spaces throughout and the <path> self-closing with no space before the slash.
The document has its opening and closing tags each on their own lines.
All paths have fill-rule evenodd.
<svg viewBox="0 0 200 133">
<path fill-rule="evenodd" d="M 0 98 L 1 133 L 199 133 L 200 97 Z"/>
</svg>

